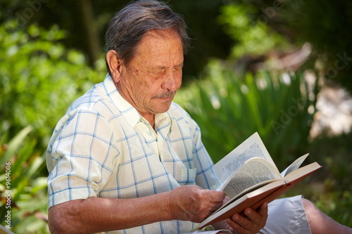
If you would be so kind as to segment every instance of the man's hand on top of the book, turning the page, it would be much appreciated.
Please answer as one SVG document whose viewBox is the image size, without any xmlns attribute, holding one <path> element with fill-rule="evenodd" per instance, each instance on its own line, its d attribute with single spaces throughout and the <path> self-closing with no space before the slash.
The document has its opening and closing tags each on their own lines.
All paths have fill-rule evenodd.
<svg viewBox="0 0 352 234">
<path fill-rule="evenodd" d="M 170 191 L 172 219 L 200 223 L 222 206 L 225 193 L 199 186 L 180 186 Z"/>
</svg>

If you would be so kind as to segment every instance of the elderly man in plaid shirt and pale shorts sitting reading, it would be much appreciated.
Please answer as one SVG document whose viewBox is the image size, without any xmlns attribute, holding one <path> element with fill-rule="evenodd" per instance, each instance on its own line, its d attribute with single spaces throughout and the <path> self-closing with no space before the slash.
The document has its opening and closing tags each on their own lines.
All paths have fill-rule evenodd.
<svg viewBox="0 0 352 234">
<path fill-rule="evenodd" d="M 225 195 L 211 190 L 218 179 L 199 127 L 172 103 L 188 47 L 184 21 L 159 1 L 135 1 L 111 20 L 106 44 L 108 75 L 75 100 L 49 143 L 49 229 L 194 232 Z M 267 218 L 263 204 L 209 228 L 258 233 Z M 294 197 L 270 203 L 261 231 L 319 232 L 327 223 L 339 226 Z"/>
</svg>

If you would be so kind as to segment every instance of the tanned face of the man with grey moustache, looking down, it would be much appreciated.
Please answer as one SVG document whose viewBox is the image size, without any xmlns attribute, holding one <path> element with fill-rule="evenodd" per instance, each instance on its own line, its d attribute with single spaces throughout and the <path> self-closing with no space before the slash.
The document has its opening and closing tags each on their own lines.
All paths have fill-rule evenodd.
<svg viewBox="0 0 352 234">
<path fill-rule="evenodd" d="M 117 87 L 146 117 L 166 112 L 182 82 L 182 42 L 172 30 L 147 33 L 129 65 L 122 63 Z"/>
</svg>

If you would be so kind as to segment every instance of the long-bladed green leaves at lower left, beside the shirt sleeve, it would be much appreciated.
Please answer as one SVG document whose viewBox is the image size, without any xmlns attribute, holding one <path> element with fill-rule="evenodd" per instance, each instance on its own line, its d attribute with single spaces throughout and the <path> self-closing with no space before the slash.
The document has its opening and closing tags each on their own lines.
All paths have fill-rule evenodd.
<svg viewBox="0 0 352 234">
<path fill-rule="evenodd" d="M 45 159 L 34 150 L 36 139 L 27 138 L 30 131 L 0 138 L 0 223 L 14 233 L 47 233 L 46 177 L 39 174 Z"/>
</svg>

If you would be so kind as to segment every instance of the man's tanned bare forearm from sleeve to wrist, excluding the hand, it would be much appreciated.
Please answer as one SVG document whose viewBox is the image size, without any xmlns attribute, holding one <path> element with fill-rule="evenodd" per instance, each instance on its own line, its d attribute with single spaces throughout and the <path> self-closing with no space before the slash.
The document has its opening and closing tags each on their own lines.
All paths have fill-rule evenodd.
<svg viewBox="0 0 352 234">
<path fill-rule="evenodd" d="M 168 193 L 134 199 L 90 197 L 49 209 L 51 233 L 98 233 L 171 220 Z"/>
</svg>

